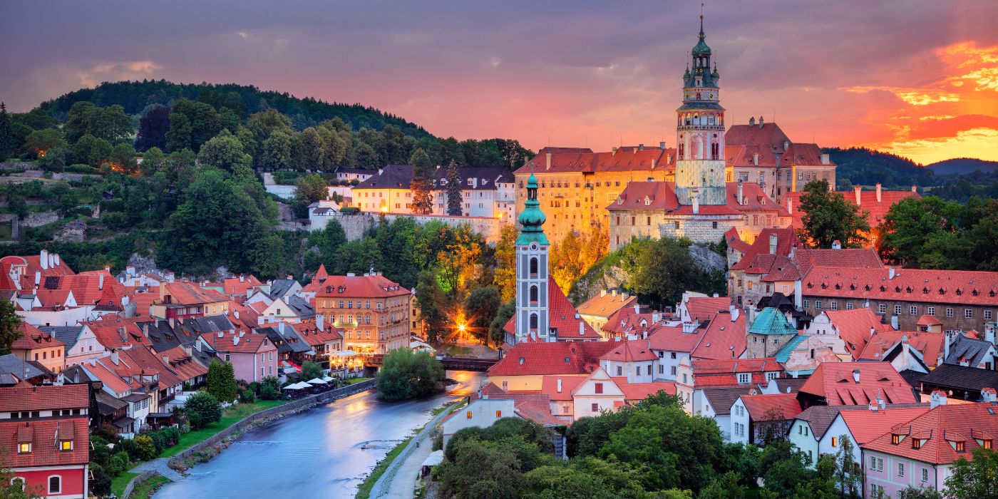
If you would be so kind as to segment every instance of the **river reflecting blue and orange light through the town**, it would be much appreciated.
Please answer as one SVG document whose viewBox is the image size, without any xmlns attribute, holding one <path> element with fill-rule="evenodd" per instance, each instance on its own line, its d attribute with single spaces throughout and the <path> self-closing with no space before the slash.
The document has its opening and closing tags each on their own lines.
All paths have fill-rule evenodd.
<svg viewBox="0 0 998 499">
<path fill-rule="evenodd" d="M 353 497 L 377 462 L 433 417 L 432 409 L 470 394 L 484 379 L 477 372 L 447 375 L 458 384 L 432 398 L 384 402 L 367 391 L 271 422 L 153 497 Z"/>
</svg>

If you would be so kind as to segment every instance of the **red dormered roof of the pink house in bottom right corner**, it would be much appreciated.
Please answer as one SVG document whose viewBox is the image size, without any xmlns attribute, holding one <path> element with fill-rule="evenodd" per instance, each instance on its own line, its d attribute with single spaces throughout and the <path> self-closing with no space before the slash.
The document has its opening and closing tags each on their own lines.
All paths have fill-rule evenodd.
<svg viewBox="0 0 998 499">
<path fill-rule="evenodd" d="M 931 464 L 950 464 L 961 457 L 973 459 L 972 452 L 981 447 L 977 439 L 992 440 L 998 435 L 996 414 L 998 406 L 992 403 L 940 405 L 895 425 L 862 448 Z M 892 443 L 893 432 L 906 436 L 895 445 Z M 921 447 L 916 449 L 912 446 L 914 438 L 923 439 Z M 964 451 L 954 450 L 950 441 L 963 441 Z"/>
</svg>

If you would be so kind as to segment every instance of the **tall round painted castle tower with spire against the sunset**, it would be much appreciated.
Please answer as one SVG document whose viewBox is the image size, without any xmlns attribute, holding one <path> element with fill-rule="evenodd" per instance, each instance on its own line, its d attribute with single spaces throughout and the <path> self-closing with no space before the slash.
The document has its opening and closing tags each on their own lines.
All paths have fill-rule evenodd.
<svg viewBox="0 0 998 499">
<path fill-rule="evenodd" d="M 683 75 L 683 105 L 676 110 L 676 197 L 681 205 L 725 205 L 725 108 L 721 107 L 718 66 L 711 47 L 693 48 L 692 67 Z"/>
</svg>

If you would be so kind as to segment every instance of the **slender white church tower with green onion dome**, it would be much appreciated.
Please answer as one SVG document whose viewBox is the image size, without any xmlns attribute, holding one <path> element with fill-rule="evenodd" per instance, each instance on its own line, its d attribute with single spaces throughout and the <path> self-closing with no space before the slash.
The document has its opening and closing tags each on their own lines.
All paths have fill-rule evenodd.
<svg viewBox="0 0 998 499">
<path fill-rule="evenodd" d="M 531 165 L 533 168 L 533 165 Z M 527 180 L 527 201 L 520 214 L 520 236 L 516 239 L 516 342 L 555 341 L 550 337 L 548 313 L 548 243 L 541 226 L 544 212 L 537 201 L 537 178 Z"/>
</svg>

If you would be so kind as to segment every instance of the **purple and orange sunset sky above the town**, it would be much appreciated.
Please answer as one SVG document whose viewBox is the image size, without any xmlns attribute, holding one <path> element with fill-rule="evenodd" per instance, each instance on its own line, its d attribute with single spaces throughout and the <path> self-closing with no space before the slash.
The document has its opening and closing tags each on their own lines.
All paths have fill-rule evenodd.
<svg viewBox="0 0 998 499">
<path fill-rule="evenodd" d="M 102 81 L 359 102 L 438 136 L 675 144 L 699 1 L 3 2 L 0 100 Z M 709 1 L 728 124 L 998 160 L 998 2 Z"/>
</svg>

